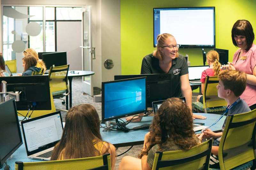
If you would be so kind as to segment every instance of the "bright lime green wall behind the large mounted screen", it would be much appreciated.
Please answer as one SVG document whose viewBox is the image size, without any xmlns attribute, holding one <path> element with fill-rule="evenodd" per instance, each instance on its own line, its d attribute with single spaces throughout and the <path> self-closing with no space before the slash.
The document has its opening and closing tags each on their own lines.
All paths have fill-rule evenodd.
<svg viewBox="0 0 256 170">
<path fill-rule="evenodd" d="M 120 4 L 122 74 L 140 74 L 143 57 L 155 50 L 153 8 L 215 6 L 216 48 L 228 49 L 229 61 L 237 50 L 231 39 L 233 24 L 238 19 L 247 19 L 256 29 L 255 0 L 120 0 Z M 205 49 L 206 52 L 209 50 Z M 179 49 L 179 52 L 189 55 L 191 66 L 202 65 L 201 48 Z"/>
</svg>

